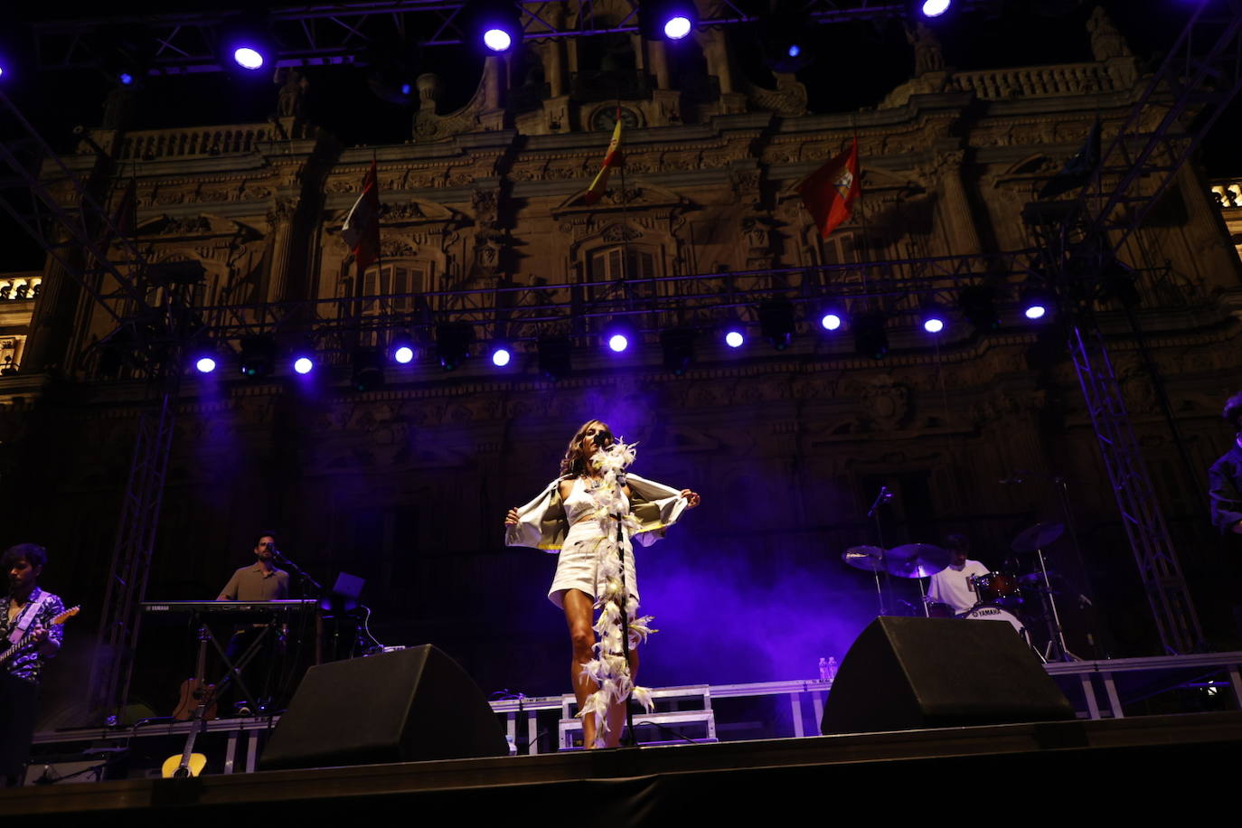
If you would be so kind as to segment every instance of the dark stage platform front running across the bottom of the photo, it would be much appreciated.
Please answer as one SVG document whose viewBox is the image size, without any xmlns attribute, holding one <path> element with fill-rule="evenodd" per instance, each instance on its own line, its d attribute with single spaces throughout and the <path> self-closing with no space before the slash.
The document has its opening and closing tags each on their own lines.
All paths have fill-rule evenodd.
<svg viewBox="0 0 1242 828">
<path fill-rule="evenodd" d="M 949 802 L 954 819 L 981 823 L 1038 818 L 1037 808 L 1158 819 L 1165 802 L 1185 819 L 1232 801 L 1236 783 L 1215 782 L 1233 776 L 1240 750 L 1236 711 L 1081 719 L 27 787 L 0 794 L 0 814 L 42 814 L 41 824 L 939 824 Z"/>
</svg>

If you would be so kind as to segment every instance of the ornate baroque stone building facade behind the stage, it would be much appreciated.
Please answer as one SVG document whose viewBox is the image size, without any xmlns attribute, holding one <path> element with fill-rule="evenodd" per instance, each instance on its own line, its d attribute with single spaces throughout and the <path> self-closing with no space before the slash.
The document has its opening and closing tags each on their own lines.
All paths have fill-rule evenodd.
<svg viewBox="0 0 1242 828">
<path fill-rule="evenodd" d="M 729 32 L 710 30 L 676 58 L 637 36 L 535 36 L 512 58 L 487 58 L 478 92 L 456 112 L 440 112 L 438 79 L 424 76 L 402 144 L 342 146 L 299 114 L 297 82 L 282 87 L 270 123 L 92 130 L 117 161 L 112 202 L 134 181 L 133 238 L 148 261 L 202 266 L 193 290 L 209 326 L 236 338 L 248 325 L 288 343 L 358 323 L 317 339 L 335 372 L 309 385 L 283 369 L 266 381 L 183 380 L 152 590 L 214 595 L 253 531 L 274 523 L 320 580 L 333 570 L 368 577 L 392 638 L 446 643 L 486 688 L 517 674 L 555 689 L 561 659 L 548 649 L 560 619 L 532 610 L 549 564 L 502 549 L 499 521 L 550 479 L 573 428 L 601 416 L 641 442 L 641 470 L 704 495 L 672 560 L 650 559 L 645 601 L 667 603 L 688 582 L 718 596 L 678 600 L 708 624 L 730 616 L 729 642 L 705 647 L 732 648 L 751 673 L 729 675 L 704 658 L 688 675 L 684 652 L 704 644 L 682 627 L 645 668 L 657 684 L 792 678 L 820 649 L 843 653 L 876 596 L 840 554 L 877 542 L 864 515 L 881 484 L 898 493 L 888 545 L 965 531 L 975 555 L 999 566 L 1025 526 L 1072 523 L 1078 547 L 1058 567 L 1077 596 L 1076 646 L 1084 655 L 1150 652 L 1146 602 L 1073 369 L 1032 365 L 1037 330 L 1006 317 L 995 333 L 959 324 L 932 344 L 905 324 L 919 307 L 910 293 L 883 299 L 904 323 L 879 361 L 805 324 L 779 353 L 755 341 L 733 353 L 704 334 L 683 376 L 661 369 L 653 330 L 621 360 L 584 344 L 599 333 L 584 312 L 621 277 L 650 279 L 638 297 L 661 307 L 684 292 L 687 314 L 702 319 L 730 290 L 831 295 L 886 267 L 935 282 L 938 258 L 1030 248 L 1025 205 L 1097 118 L 1107 140 L 1145 88 L 1107 17 L 1092 17 L 1090 35 L 1090 61 L 956 72 L 932 32 L 912 31 L 914 76 L 874 108 L 838 114 L 807 112 L 791 74 L 741 77 Z M 623 175 L 589 205 L 619 114 Z M 854 137 L 863 196 L 821 240 L 796 185 Z M 83 144 L 68 163 L 87 174 L 103 161 Z M 381 261 L 358 274 L 342 226 L 373 163 Z M 1242 197 L 1228 192 L 1182 168 L 1124 252 L 1159 384 L 1122 315 L 1099 317 L 1200 612 L 1221 639 L 1236 636 L 1228 585 L 1238 574 L 1207 531 L 1202 477 L 1227 447 L 1220 405 L 1242 385 L 1242 281 L 1221 218 Z M 27 495 L 14 503 L 30 508 L 10 519 L 63 550 L 87 592 L 106 577 L 101 552 L 144 387 L 124 369 L 103 376 L 99 343 L 116 322 L 86 292 L 55 263 L 34 278 L 46 288 L 15 356 L 24 376 L 0 377 L 6 458 L 10 474 L 35 469 L 35 457 L 55 463 L 55 474 L 29 473 L 72 518 L 48 525 L 42 495 Z M 530 305 L 505 305 L 514 290 Z M 487 338 L 497 308 L 518 341 L 512 369 L 473 360 L 448 375 L 432 365 L 427 319 L 491 309 L 493 326 L 478 326 Z M 753 308 L 739 313 L 755 323 Z M 381 389 L 351 390 L 344 355 L 384 344 L 365 324 L 381 314 L 406 314 L 422 331 L 421 364 L 390 366 Z M 673 324 L 667 313 L 655 319 Z M 555 382 L 534 354 L 544 333 L 579 346 L 576 370 Z M 801 638 L 774 631 L 751 608 L 759 587 L 797 590 L 831 618 Z M 492 626 L 463 601 L 513 618 L 512 647 L 497 655 Z M 774 634 L 794 637 L 795 665 L 765 653 Z"/>
</svg>

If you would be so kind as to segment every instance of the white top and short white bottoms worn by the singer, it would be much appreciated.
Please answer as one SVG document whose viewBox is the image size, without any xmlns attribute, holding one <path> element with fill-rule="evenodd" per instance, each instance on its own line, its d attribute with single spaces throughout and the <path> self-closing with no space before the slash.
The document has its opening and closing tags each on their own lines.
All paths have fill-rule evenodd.
<svg viewBox="0 0 1242 828">
<path fill-rule="evenodd" d="M 623 503 L 628 510 L 628 499 L 625 499 Z M 569 533 L 565 535 L 556 560 L 556 576 L 548 588 L 548 600 L 558 607 L 564 607 L 565 590 L 581 590 L 592 600 L 599 597 L 604 582 L 600 577 L 599 545 L 604 540 L 605 531 L 616 533 L 616 521 L 611 516 L 600 519 L 591 516 L 599 505 L 585 478 L 574 480 L 564 504 Z M 627 530 L 625 530 L 623 538 L 626 591 L 635 601 L 638 601 L 633 544 Z"/>
</svg>

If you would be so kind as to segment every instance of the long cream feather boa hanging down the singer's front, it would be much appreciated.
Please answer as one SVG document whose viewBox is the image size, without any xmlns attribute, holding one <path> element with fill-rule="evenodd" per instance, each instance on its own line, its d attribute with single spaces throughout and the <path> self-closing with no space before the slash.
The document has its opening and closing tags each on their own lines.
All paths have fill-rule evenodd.
<svg viewBox="0 0 1242 828">
<path fill-rule="evenodd" d="M 600 525 L 600 540 L 595 545 L 595 562 L 604 582 L 601 593 L 595 597 L 595 608 L 599 618 L 595 622 L 595 658 L 582 664 L 582 675 L 590 677 L 599 689 L 586 698 L 582 708 L 578 711 L 580 718 L 595 716 L 595 744 L 604 744 L 607 735 L 609 708 L 614 704 L 623 703 L 633 696 L 647 713 L 655 709 L 648 688 L 636 686 L 630 679 L 630 663 L 625 658 L 625 648 L 621 643 L 622 624 L 621 607 L 625 607 L 630 617 L 630 647 L 637 647 L 640 642 L 646 642 L 647 636 L 657 632 L 651 628 L 651 616 L 638 614 L 638 601 L 628 593 L 625 586 L 625 572 L 621 569 L 620 555 L 617 552 L 616 520 L 614 515 L 625 511 L 622 525 L 626 536 L 632 536 L 642 526 L 630 514 L 623 500 L 622 487 L 625 485 L 625 468 L 633 463 L 636 443 L 623 443 L 617 441 L 609 451 L 600 449 L 591 457 L 591 466 L 602 473 L 602 483 L 594 490 L 595 510 L 594 519 Z M 631 551 L 631 555 L 633 552 Z"/>
</svg>

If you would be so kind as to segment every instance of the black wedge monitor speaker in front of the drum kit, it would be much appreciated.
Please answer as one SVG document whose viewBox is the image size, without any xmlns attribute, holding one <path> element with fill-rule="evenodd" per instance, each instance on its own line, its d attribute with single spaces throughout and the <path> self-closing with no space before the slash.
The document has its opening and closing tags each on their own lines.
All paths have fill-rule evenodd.
<svg viewBox="0 0 1242 828">
<path fill-rule="evenodd" d="M 820 732 L 1073 718 L 1068 699 L 1011 624 L 882 616 L 842 659 Z"/>
</svg>

